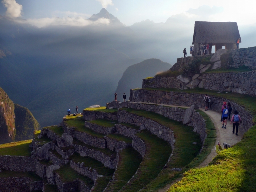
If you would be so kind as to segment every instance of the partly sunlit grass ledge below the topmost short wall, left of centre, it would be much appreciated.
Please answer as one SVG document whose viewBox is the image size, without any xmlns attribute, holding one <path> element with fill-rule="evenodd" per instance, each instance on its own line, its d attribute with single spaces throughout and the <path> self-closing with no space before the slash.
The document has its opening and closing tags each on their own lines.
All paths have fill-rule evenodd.
<svg viewBox="0 0 256 192">
<path fill-rule="evenodd" d="M 89 135 L 92 135 L 93 137 L 98 137 L 98 138 L 104 137 L 104 134 L 100 134 L 95 131 L 92 131 L 89 128 L 86 128 L 84 126 L 84 120 L 82 117 L 78 117 L 76 119 L 71 119 L 71 120 L 65 121 L 65 123 L 68 124 L 68 126 L 70 126 L 70 127 L 75 127 L 76 131 L 85 132 Z"/>
</svg>

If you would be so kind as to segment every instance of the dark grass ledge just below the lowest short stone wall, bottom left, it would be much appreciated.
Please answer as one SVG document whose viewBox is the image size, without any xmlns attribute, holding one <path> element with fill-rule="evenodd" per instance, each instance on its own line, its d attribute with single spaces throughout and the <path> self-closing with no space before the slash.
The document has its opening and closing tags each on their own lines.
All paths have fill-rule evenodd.
<svg viewBox="0 0 256 192">
<path fill-rule="evenodd" d="M 74 169 L 70 167 L 69 164 L 66 164 L 60 167 L 60 169 L 56 170 L 55 172 L 60 175 L 60 179 L 64 183 L 72 182 L 76 179 L 80 179 L 84 181 L 86 186 L 88 186 L 89 188 L 92 188 L 93 186 L 93 180 L 91 180 L 89 177 L 86 177 L 77 173 Z"/>
</svg>

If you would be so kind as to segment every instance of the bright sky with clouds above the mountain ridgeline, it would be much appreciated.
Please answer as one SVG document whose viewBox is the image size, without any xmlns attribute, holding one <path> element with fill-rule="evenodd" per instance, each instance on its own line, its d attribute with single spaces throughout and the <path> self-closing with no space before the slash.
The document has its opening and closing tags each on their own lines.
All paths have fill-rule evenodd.
<svg viewBox="0 0 256 192">
<path fill-rule="evenodd" d="M 185 15 L 204 21 L 236 21 L 239 26 L 256 23 L 252 0 L 1 0 L 0 14 L 22 18 L 35 24 L 63 19 L 79 22 L 100 12 L 102 7 L 129 26 L 142 20 L 166 22 L 169 17 Z M 79 20 L 78 20 L 79 19 Z M 37 22 L 40 21 L 40 22 Z M 106 22 L 106 21 L 102 21 Z M 44 25 L 41 25 L 44 26 Z M 38 26 L 38 27 L 41 27 Z"/>
</svg>

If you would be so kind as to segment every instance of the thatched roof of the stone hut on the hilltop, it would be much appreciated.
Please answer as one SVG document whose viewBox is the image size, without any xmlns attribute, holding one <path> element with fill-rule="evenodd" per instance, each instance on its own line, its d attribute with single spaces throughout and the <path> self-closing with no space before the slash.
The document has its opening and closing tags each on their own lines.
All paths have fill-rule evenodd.
<svg viewBox="0 0 256 192">
<path fill-rule="evenodd" d="M 236 22 L 196 21 L 193 43 L 235 43 L 241 37 Z"/>
</svg>

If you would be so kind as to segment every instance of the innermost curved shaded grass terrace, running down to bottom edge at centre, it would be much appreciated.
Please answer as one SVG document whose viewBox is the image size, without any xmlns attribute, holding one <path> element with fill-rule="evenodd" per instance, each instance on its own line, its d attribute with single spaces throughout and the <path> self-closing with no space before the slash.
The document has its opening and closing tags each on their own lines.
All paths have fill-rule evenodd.
<svg viewBox="0 0 256 192">
<path fill-rule="evenodd" d="M 106 192 L 119 191 L 135 174 L 142 157 L 133 148 L 126 148 L 119 152 L 119 162 L 115 172 L 115 180 L 112 181 Z"/>
</svg>

